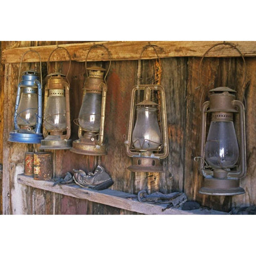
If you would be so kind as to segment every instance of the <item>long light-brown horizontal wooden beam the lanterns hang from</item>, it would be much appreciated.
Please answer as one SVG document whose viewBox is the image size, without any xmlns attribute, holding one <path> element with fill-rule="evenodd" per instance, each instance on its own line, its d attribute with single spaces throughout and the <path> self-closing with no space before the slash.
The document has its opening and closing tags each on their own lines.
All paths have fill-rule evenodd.
<svg viewBox="0 0 256 256">
<path fill-rule="evenodd" d="M 95 44 L 103 44 L 111 53 L 111 60 L 138 60 L 141 51 L 149 42 L 145 41 L 110 41 L 110 42 L 95 42 Z M 155 49 L 159 58 L 168 57 L 202 57 L 203 54 L 214 44 L 221 43 L 220 41 L 153 41 L 151 45 L 155 45 Z M 233 41 L 238 49 L 246 57 L 256 56 L 256 41 Z M 73 61 L 85 61 L 87 52 L 94 42 L 63 44 Z M 56 49 L 57 45 L 44 45 L 34 47 L 20 47 L 15 49 L 6 49 L 3 51 L 2 61 L 4 63 L 19 63 L 22 54 L 28 50 L 36 50 L 41 60 L 48 61 L 51 52 Z M 97 50 L 96 50 L 97 49 Z M 103 47 L 97 47 L 90 51 L 87 61 L 102 61 L 109 60 L 108 54 Z M 230 46 L 220 45 L 212 49 L 207 57 L 239 57 L 239 53 Z M 141 59 L 155 59 L 155 51 L 149 47 L 143 52 Z M 68 61 L 68 54 L 63 50 L 55 51 L 51 57 L 51 61 Z M 25 55 L 23 62 L 36 62 L 38 55 L 34 52 L 29 52 Z"/>
</svg>

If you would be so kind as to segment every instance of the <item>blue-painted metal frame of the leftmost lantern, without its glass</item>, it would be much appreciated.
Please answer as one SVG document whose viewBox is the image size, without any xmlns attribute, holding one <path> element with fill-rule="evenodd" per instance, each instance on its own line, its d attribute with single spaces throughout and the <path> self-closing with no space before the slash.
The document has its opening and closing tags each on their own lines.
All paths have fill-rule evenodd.
<svg viewBox="0 0 256 256">
<path fill-rule="evenodd" d="M 28 70 L 22 73 L 22 80 L 18 84 L 17 98 L 14 110 L 14 129 L 10 132 L 9 141 L 19 143 L 41 143 L 43 134 L 40 133 L 42 125 L 42 84 L 38 81 L 38 75 L 34 70 Z M 37 123 L 34 130 L 27 131 L 20 129 L 17 123 L 17 110 L 20 102 L 21 87 L 37 88 L 38 94 L 38 111 Z"/>
</svg>

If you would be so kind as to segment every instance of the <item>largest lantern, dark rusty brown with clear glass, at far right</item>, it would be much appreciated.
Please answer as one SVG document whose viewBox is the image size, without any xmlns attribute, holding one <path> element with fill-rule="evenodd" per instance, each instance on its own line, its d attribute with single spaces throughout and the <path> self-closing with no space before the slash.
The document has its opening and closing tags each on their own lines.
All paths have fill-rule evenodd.
<svg viewBox="0 0 256 256">
<path fill-rule="evenodd" d="M 237 50 L 233 44 L 222 44 Z M 204 176 L 204 185 L 199 190 L 201 194 L 232 196 L 245 193 L 239 187 L 239 179 L 246 174 L 244 105 L 236 100 L 235 93 L 235 90 L 227 86 L 217 87 L 210 90 L 210 99 L 203 104 L 199 157 L 199 169 Z M 239 115 L 239 145 L 233 122 L 235 114 Z M 211 122 L 206 138 L 206 119 L 209 115 Z"/>
</svg>

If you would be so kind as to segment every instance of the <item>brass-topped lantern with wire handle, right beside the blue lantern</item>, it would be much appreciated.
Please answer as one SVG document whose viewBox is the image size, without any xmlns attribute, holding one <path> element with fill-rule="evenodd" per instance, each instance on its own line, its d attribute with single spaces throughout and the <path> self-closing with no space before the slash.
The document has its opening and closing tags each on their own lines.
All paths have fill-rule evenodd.
<svg viewBox="0 0 256 256">
<path fill-rule="evenodd" d="M 57 49 L 64 49 L 58 47 Z M 55 49 L 55 50 L 57 50 Z M 55 51 L 54 50 L 54 51 Z M 52 53 L 54 52 L 52 51 Z M 66 50 L 67 51 L 67 50 Z M 52 55 L 51 53 L 51 55 Z M 67 51 L 68 53 L 68 51 Z M 51 55 L 48 60 L 51 58 Z M 69 55 L 69 53 L 68 53 Z M 70 55 L 69 68 L 70 69 Z M 49 74 L 49 70 L 48 74 Z M 44 123 L 40 149 L 70 149 L 70 106 L 69 106 L 69 81 L 67 75 L 50 73 L 47 75 L 47 85 L 44 94 Z"/>
</svg>

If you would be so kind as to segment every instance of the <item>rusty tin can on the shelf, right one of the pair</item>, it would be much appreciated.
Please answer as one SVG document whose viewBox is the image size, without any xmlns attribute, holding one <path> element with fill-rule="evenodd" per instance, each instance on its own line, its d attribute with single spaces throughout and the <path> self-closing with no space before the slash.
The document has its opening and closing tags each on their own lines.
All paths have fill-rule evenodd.
<svg viewBox="0 0 256 256">
<path fill-rule="evenodd" d="M 52 153 L 34 153 L 34 179 L 51 180 L 53 176 Z"/>
</svg>

